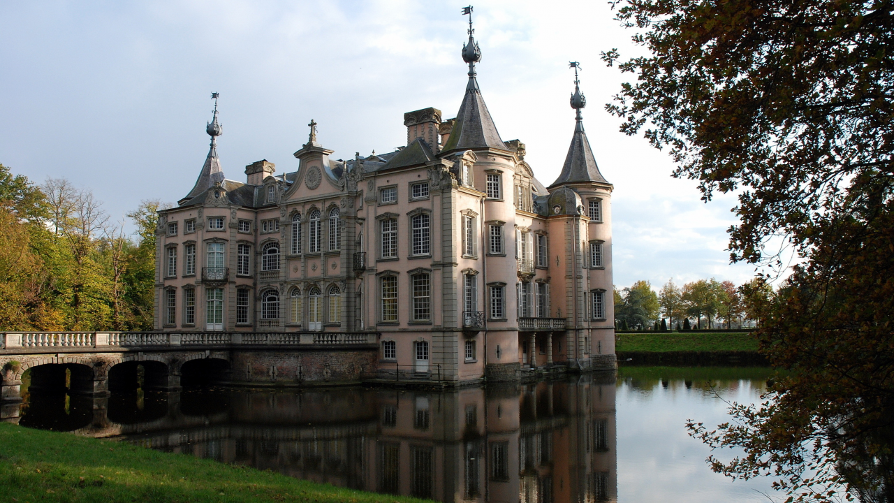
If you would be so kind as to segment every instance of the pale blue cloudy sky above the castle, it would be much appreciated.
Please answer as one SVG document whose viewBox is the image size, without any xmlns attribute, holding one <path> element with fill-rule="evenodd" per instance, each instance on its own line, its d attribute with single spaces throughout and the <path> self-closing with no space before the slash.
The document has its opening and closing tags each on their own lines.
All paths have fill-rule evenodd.
<svg viewBox="0 0 894 503">
<path fill-rule="evenodd" d="M 0 163 L 42 183 L 93 191 L 114 218 L 140 200 L 173 203 L 207 156 L 212 91 L 220 93 L 223 173 L 242 181 L 265 158 L 277 174 L 311 119 L 333 158 L 406 143 L 403 114 L 456 115 L 468 79 L 460 49 L 466 4 L 443 1 L 154 0 L 0 3 Z M 504 141 L 549 185 L 574 130 L 573 72 L 582 67 L 584 124 L 611 198 L 614 283 L 657 289 L 701 278 L 737 284 L 730 265 L 732 195 L 700 200 L 671 177 L 666 152 L 619 132 L 604 105 L 630 81 L 602 51 L 642 54 L 632 30 L 595 2 L 486 0 L 475 6 L 477 78 Z"/>
</svg>

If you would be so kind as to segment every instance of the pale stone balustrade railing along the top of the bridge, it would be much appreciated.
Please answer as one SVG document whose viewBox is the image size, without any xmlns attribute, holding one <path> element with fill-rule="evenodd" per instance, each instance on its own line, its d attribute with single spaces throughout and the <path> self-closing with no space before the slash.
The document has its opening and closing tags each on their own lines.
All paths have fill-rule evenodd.
<svg viewBox="0 0 894 503">
<path fill-rule="evenodd" d="M 283 345 L 371 345 L 376 332 L 4 332 L 0 351 L 103 350 Z"/>
</svg>

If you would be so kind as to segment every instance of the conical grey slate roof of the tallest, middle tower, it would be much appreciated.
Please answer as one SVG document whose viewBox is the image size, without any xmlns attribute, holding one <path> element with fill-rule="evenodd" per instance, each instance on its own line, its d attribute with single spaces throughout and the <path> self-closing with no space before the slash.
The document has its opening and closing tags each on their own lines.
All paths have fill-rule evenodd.
<svg viewBox="0 0 894 503">
<path fill-rule="evenodd" d="M 462 98 L 460 111 L 456 113 L 456 123 L 443 151 L 468 149 L 508 150 L 500 139 L 497 126 L 493 124 L 491 113 L 487 111 L 485 98 L 481 96 L 474 76 L 468 79 L 466 96 Z"/>
</svg>

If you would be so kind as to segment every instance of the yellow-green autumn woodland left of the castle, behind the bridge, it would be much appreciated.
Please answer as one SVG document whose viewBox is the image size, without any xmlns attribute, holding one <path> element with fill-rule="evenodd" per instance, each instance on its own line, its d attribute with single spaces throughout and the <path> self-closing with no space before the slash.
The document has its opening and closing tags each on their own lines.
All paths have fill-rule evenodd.
<svg viewBox="0 0 894 503">
<path fill-rule="evenodd" d="M 151 329 L 158 208 L 116 220 L 89 190 L 0 164 L 0 330 Z"/>
</svg>

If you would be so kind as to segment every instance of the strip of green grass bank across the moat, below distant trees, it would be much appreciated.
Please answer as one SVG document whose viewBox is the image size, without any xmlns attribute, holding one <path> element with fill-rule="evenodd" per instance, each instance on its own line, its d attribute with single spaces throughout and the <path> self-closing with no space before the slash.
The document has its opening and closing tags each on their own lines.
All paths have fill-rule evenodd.
<svg viewBox="0 0 894 503">
<path fill-rule="evenodd" d="M 757 339 L 749 333 L 618 334 L 615 351 L 757 351 Z"/>
</svg>

